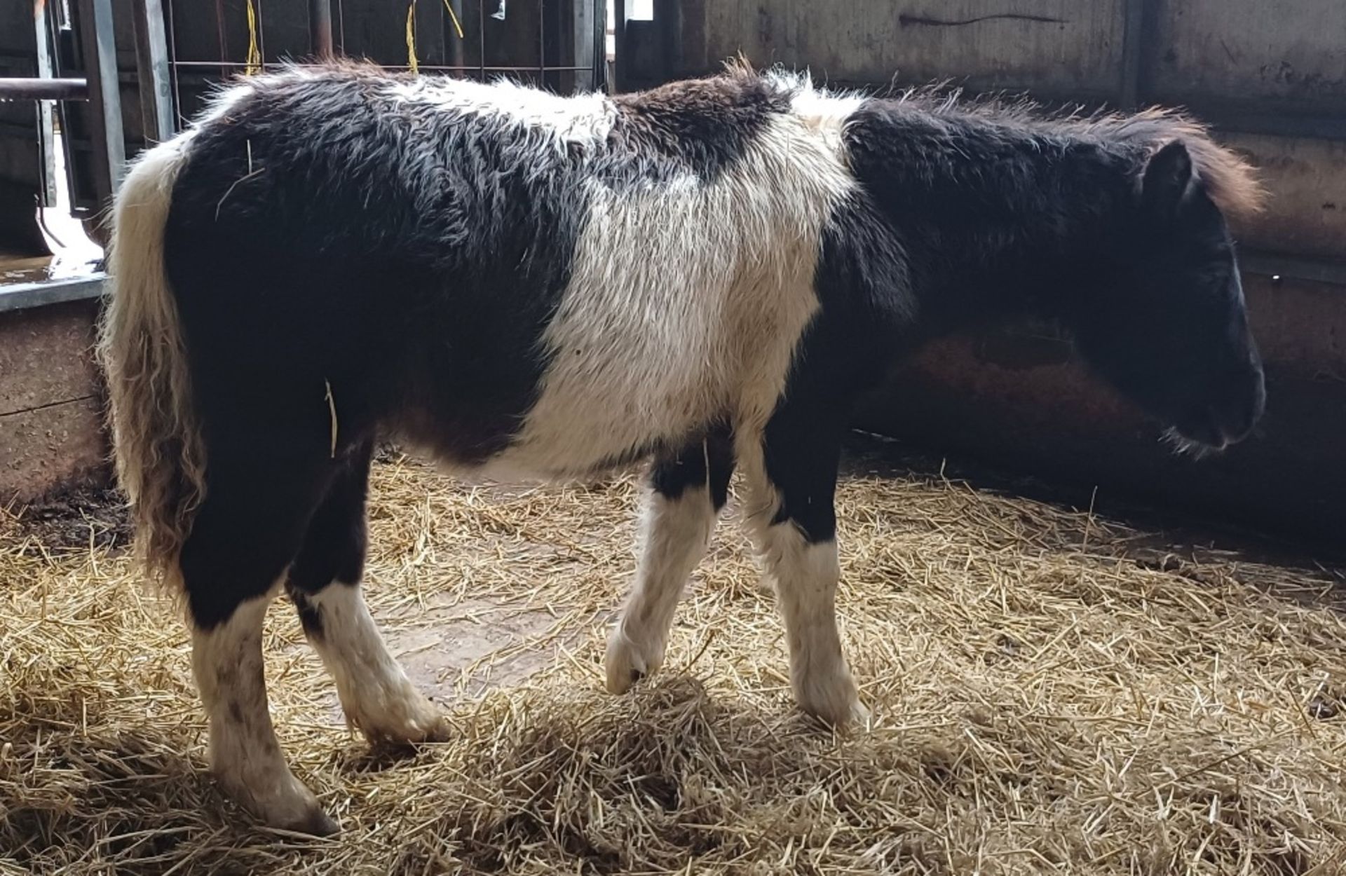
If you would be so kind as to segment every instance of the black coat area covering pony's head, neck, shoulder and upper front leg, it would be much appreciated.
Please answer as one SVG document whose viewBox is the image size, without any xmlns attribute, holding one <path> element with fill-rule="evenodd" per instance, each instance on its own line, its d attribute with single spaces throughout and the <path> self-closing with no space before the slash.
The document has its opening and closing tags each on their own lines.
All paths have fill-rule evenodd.
<svg viewBox="0 0 1346 876">
<path fill-rule="evenodd" d="M 1176 210 L 1171 191 L 1164 210 L 1140 196 L 1156 143 L 1179 136 L 1190 126 L 1152 116 L 864 102 L 843 135 L 859 191 L 830 218 L 821 308 L 763 437 L 774 522 L 835 537 L 839 429 L 855 398 L 923 340 L 983 324 L 1055 320 L 1184 435 L 1246 432 L 1261 363 L 1228 229 L 1199 190 L 1183 188 Z"/>
</svg>

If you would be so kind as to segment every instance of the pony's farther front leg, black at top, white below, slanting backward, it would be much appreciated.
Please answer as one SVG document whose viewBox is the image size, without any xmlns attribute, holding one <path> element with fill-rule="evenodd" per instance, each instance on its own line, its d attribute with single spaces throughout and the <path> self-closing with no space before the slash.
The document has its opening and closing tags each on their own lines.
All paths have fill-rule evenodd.
<svg viewBox="0 0 1346 876">
<path fill-rule="evenodd" d="M 705 554 L 734 474 L 732 437 L 723 431 L 650 467 L 635 585 L 607 643 L 607 688 L 623 693 L 664 662 L 673 612 Z"/>
</svg>

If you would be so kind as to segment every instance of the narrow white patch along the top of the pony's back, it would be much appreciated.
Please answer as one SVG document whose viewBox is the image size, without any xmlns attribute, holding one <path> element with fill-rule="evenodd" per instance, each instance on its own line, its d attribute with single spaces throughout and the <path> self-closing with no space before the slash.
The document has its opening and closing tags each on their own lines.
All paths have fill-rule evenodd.
<svg viewBox="0 0 1346 876">
<path fill-rule="evenodd" d="M 607 140 L 616 108 L 599 93 L 563 97 L 502 79 L 494 83 L 452 77 L 421 77 L 384 90 L 393 101 L 444 110 L 498 116 L 553 135 L 559 145 L 575 143 L 596 148 Z"/>
</svg>

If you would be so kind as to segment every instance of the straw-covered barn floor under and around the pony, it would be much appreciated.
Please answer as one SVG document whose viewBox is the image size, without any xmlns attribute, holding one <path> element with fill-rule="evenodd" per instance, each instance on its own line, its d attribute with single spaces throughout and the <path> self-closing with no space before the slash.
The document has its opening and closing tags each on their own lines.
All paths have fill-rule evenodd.
<svg viewBox="0 0 1346 876">
<path fill-rule="evenodd" d="M 186 635 L 131 575 L 118 515 L 11 513 L 0 872 L 1346 869 L 1339 572 L 851 468 L 840 604 L 876 723 L 837 736 L 790 705 L 736 527 L 664 671 L 611 697 L 602 636 L 634 564 L 634 482 L 471 488 L 380 463 L 374 614 L 456 732 L 370 751 L 277 604 L 273 710 L 342 822 L 328 841 L 252 826 L 202 772 Z"/>
</svg>

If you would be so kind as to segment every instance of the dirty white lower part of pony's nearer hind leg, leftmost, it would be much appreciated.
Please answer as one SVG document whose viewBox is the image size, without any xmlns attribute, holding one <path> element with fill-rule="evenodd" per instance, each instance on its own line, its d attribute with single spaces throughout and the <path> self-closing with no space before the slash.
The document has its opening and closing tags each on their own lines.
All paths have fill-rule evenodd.
<svg viewBox="0 0 1346 876">
<path fill-rule="evenodd" d="M 267 705 L 261 624 L 275 591 L 238 606 L 225 623 L 192 630 L 191 669 L 210 717 L 210 766 L 225 791 L 273 828 L 336 832 L 285 764 Z"/>
</svg>

